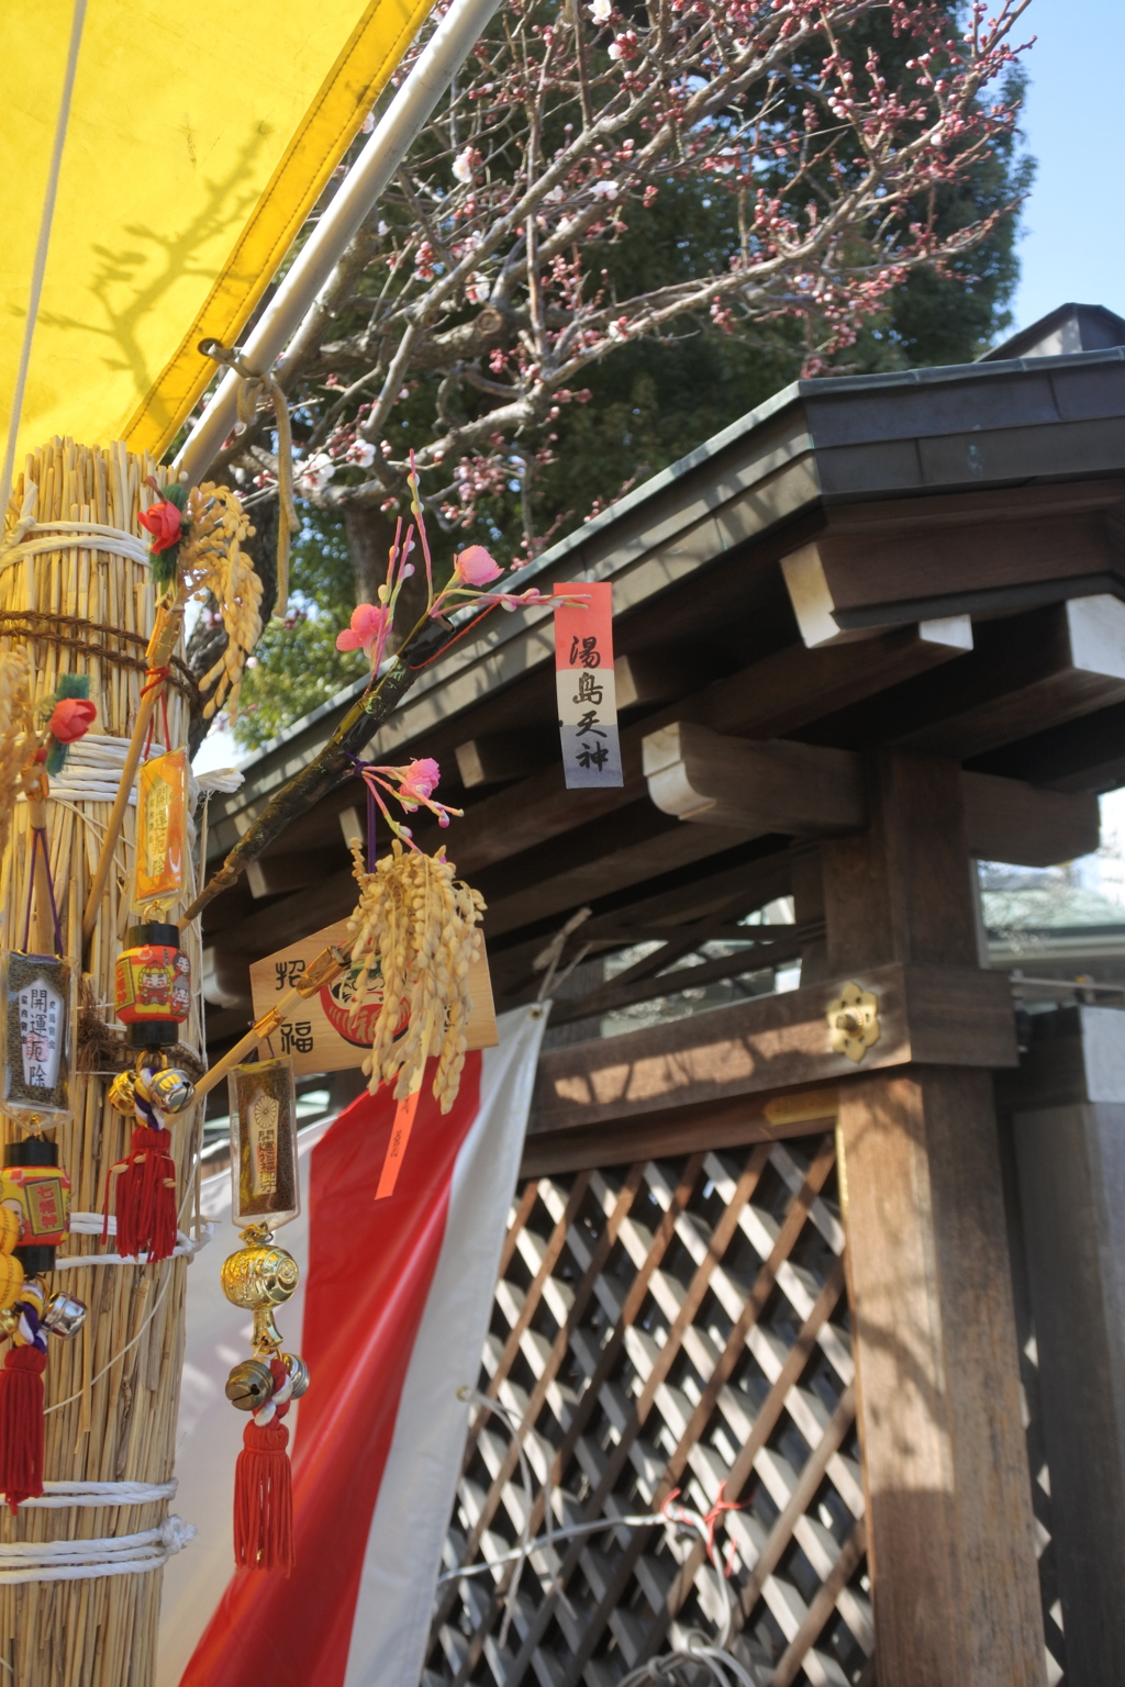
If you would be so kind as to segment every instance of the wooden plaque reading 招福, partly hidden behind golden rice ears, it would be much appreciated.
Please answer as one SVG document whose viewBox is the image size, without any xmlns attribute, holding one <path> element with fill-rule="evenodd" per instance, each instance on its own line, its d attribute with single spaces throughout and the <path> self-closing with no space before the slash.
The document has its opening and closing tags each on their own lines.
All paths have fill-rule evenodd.
<svg viewBox="0 0 1125 1687">
<path fill-rule="evenodd" d="M 339 919 L 334 926 L 314 931 L 300 943 L 290 943 L 288 948 L 255 962 L 250 968 L 255 1019 L 270 1012 L 278 997 L 297 984 L 320 950 L 327 948 L 329 943 L 346 941 L 347 921 Z M 347 1066 L 363 1066 L 371 1051 L 371 1036 L 368 1034 L 368 1041 L 363 1041 L 364 1021 L 378 1009 L 366 1009 L 358 1019 L 351 1019 L 349 995 L 351 973 L 344 973 L 334 985 L 300 1000 L 290 1017 L 275 1031 L 273 1049 L 277 1054 L 292 1054 L 297 1076 L 310 1071 L 344 1071 Z M 496 1048 L 496 1011 L 484 950 L 469 968 L 469 995 L 472 997 L 467 1026 L 469 1048 Z"/>
</svg>

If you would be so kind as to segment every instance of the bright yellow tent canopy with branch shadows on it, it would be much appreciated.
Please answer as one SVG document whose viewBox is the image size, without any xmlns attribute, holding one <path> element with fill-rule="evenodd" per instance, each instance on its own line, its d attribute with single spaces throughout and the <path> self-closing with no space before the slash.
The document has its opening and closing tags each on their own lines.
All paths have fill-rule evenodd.
<svg viewBox="0 0 1125 1687">
<path fill-rule="evenodd" d="M 22 454 L 160 454 L 236 339 L 433 0 L 3 0 L 0 428 L 81 27 Z"/>
</svg>

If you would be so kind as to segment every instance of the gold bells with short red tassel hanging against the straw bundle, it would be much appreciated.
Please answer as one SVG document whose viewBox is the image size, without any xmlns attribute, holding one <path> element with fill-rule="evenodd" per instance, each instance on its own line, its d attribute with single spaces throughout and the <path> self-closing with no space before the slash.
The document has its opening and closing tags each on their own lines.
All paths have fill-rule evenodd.
<svg viewBox="0 0 1125 1687">
<path fill-rule="evenodd" d="M 175 1248 L 175 1161 L 167 1120 L 189 1108 L 194 1097 L 187 1073 L 165 1064 L 159 1051 L 138 1054 L 137 1068 L 118 1073 L 110 1085 L 110 1105 L 137 1120 L 128 1154 L 110 1167 L 101 1232 L 105 1240 L 113 1201 L 123 1257 L 165 1260 Z"/>
</svg>

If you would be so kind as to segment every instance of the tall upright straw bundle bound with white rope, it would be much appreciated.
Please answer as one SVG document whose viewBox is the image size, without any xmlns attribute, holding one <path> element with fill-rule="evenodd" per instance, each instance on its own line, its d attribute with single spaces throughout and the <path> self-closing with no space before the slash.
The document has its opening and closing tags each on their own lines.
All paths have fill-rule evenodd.
<svg viewBox="0 0 1125 1687">
<path fill-rule="evenodd" d="M 147 476 L 162 479 L 148 457 L 123 445 L 86 449 L 51 440 L 27 459 L 8 509 L 8 531 L 20 515 L 35 521 L 94 521 L 142 536 L 137 515 L 155 494 Z M 30 486 L 34 499 L 27 498 Z M 30 614 L 42 619 L 27 621 Z M 27 655 L 34 697 L 47 697 L 62 673 L 88 673 L 98 703 L 93 730 L 126 737 L 143 685 L 143 649 L 155 617 L 148 567 L 69 538 L 59 548 L 0 557 L 0 651 Z M 187 737 L 187 702 L 169 687 L 170 742 Z M 159 732 L 162 737 L 162 730 Z M 51 869 L 71 957 L 81 953 L 81 921 L 110 801 L 49 803 Z M 113 962 L 128 924 L 133 820 L 130 808 L 110 874 L 88 962 L 88 994 L 113 1021 Z M 27 899 L 27 803 L 19 803 L 12 838 L 0 862 L 0 913 L 5 941 L 19 945 Z M 191 891 L 189 891 L 191 894 Z M 175 919 L 175 909 L 169 911 Z M 199 978 L 197 933 L 184 938 Z M 184 1041 L 202 1049 L 199 997 Z M 61 1161 L 73 1205 L 100 1211 L 108 1167 L 128 1149 L 132 1120 L 106 1107 L 108 1080 L 83 1071 L 74 1118 L 59 1129 Z M 172 1132 L 180 1199 L 192 1186 L 199 1108 L 180 1115 Z M 3 1118 L 5 1140 L 15 1130 Z M 184 1216 L 180 1216 L 184 1226 Z M 73 1253 L 93 1252 L 74 1237 Z M 89 1307 L 74 1339 L 51 1341 L 47 1366 L 46 1474 L 54 1481 L 162 1483 L 172 1474 L 174 1431 L 184 1343 L 186 1259 L 157 1265 L 83 1267 L 64 1285 Z M 132 1346 L 130 1346 L 132 1343 Z M 116 1358 L 116 1355 L 121 1355 Z M 113 1363 L 111 1363 L 113 1361 Z M 54 1410 L 52 1410 L 54 1407 Z M 3 1512 L 0 1540 L 59 1540 L 125 1535 L 157 1527 L 167 1501 L 105 1510 Z M 147 1687 L 155 1660 L 160 1576 L 113 1576 L 76 1582 L 0 1587 L 0 1662 L 20 1687 Z"/>
</svg>

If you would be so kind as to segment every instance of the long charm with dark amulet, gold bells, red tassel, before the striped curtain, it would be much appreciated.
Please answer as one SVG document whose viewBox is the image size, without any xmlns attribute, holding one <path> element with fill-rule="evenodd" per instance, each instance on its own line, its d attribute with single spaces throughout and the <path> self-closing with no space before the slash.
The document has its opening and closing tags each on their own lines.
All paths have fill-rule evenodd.
<svg viewBox="0 0 1125 1687">
<path fill-rule="evenodd" d="M 300 1211 L 297 1100 L 288 1059 L 236 1066 L 231 1091 L 233 1218 L 241 1248 L 223 1265 L 223 1292 L 253 1312 L 253 1356 L 231 1372 L 226 1397 L 250 1412 L 234 1469 L 234 1560 L 245 1569 L 293 1567 L 293 1500 L 288 1468 L 290 1402 L 309 1387 L 309 1368 L 282 1353 L 275 1311 L 297 1289 L 297 1260 L 273 1228 Z"/>
</svg>

